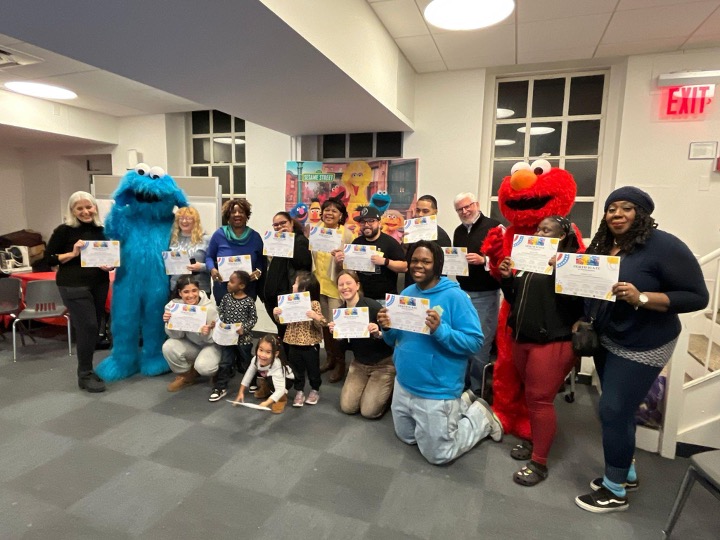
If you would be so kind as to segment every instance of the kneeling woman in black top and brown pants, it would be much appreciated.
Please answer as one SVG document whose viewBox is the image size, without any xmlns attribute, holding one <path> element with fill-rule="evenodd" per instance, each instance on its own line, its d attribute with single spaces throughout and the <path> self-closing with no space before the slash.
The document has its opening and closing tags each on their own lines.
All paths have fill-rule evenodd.
<svg viewBox="0 0 720 540">
<path fill-rule="evenodd" d="M 359 411 L 365 418 L 380 418 L 387 410 L 395 382 L 393 350 L 382 339 L 382 332 L 377 325 L 377 314 L 382 306 L 360 294 L 360 278 L 352 270 L 340 272 L 337 286 L 343 299 L 341 308 L 366 307 L 370 315 L 369 339 L 339 340 L 343 351 L 351 350 L 354 355 L 340 393 L 340 409 L 346 414 Z M 335 330 L 335 323 L 328 326 L 330 332 Z"/>
</svg>

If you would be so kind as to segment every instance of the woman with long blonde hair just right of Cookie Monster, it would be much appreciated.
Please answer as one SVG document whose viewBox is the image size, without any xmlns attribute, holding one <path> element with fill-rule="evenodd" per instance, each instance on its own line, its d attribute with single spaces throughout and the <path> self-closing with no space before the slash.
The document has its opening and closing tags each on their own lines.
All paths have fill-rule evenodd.
<svg viewBox="0 0 720 540">
<path fill-rule="evenodd" d="M 200 283 L 200 289 L 210 296 L 210 274 L 205 265 L 210 236 L 203 231 L 200 214 L 192 206 L 179 208 L 175 214 L 172 234 L 170 236 L 171 251 L 187 251 L 190 264 L 187 269 L 192 272 Z M 170 290 L 175 290 L 177 280 L 182 274 L 170 276 Z"/>
</svg>

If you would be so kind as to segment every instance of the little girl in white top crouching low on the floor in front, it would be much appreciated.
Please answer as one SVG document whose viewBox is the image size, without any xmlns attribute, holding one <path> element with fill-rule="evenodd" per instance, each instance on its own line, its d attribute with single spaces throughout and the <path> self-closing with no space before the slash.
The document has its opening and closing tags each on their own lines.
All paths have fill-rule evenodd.
<svg viewBox="0 0 720 540">
<path fill-rule="evenodd" d="M 260 338 L 255 348 L 255 358 L 245 372 L 235 401 L 245 401 L 245 389 L 257 375 L 258 389 L 255 397 L 264 400 L 260 405 L 270 407 L 275 414 L 285 410 L 287 392 L 292 387 L 295 376 L 290 366 L 285 364 L 280 351 L 280 341 L 274 335 L 265 334 Z"/>
</svg>

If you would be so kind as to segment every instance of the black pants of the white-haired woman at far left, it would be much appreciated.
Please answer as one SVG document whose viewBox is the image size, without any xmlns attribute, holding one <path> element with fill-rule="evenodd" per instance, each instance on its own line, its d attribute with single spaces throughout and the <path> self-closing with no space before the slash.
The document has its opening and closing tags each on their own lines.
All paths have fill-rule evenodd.
<svg viewBox="0 0 720 540">
<path fill-rule="evenodd" d="M 109 283 L 90 287 L 58 287 L 70 313 L 75 330 L 75 347 L 78 357 L 78 377 L 92 373 L 93 354 L 97 345 L 100 324 L 105 316 Z"/>
</svg>

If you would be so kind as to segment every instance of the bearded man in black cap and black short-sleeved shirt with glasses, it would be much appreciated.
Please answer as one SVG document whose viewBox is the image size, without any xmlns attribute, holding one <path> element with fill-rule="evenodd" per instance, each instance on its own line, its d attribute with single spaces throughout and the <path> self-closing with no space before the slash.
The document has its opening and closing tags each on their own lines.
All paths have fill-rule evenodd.
<svg viewBox="0 0 720 540">
<path fill-rule="evenodd" d="M 385 305 L 385 294 L 397 294 L 398 273 L 407 271 L 407 262 L 402 247 L 392 236 L 380 230 L 380 212 L 373 206 L 359 207 L 360 215 L 355 222 L 360 227 L 360 236 L 353 244 L 375 246 L 382 254 L 373 255 L 374 272 L 358 272 L 363 294 L 367 298 L 377 300 Z M 340 251 L 335 255 L 342 262 L 345 254 Z"/>
</svg>

